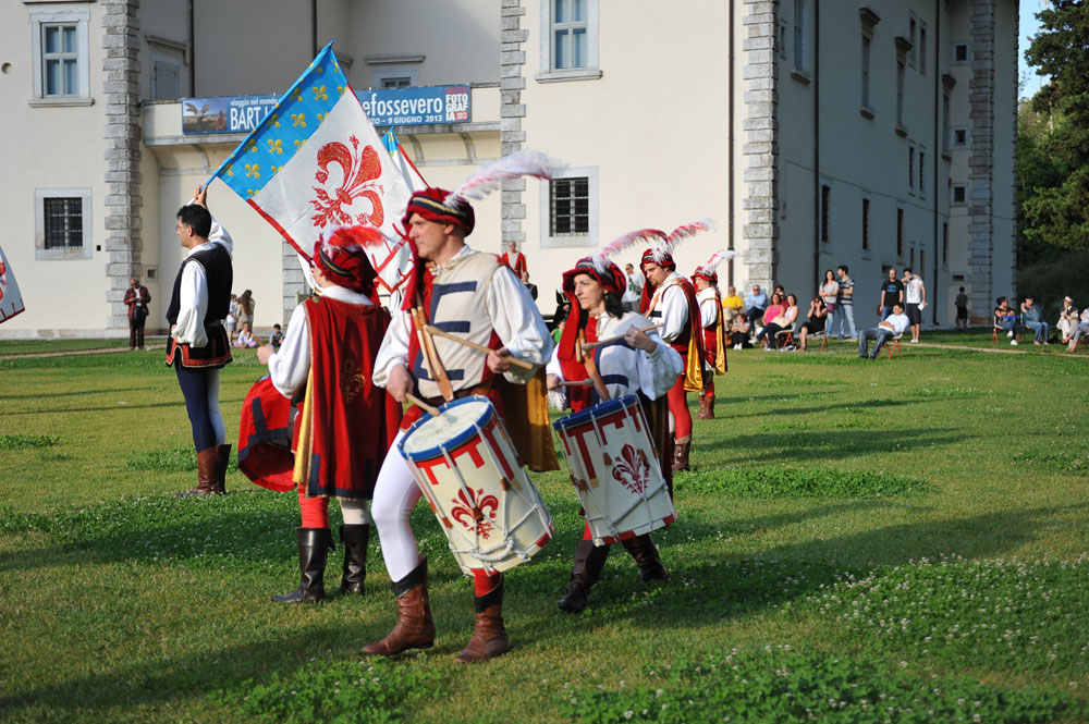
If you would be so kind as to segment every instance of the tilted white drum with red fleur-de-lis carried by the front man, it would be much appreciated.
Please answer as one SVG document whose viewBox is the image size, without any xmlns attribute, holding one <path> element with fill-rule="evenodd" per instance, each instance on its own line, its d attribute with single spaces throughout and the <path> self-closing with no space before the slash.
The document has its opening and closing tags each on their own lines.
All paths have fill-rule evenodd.
<svg viewBox="0 0 1089 724">
<path fill-rule="evenodd" d="M 455 400 L 399 443 L 466 574 L 506 570 L 552 538 L 552 516 L 487 397 Z"/>
</svg>

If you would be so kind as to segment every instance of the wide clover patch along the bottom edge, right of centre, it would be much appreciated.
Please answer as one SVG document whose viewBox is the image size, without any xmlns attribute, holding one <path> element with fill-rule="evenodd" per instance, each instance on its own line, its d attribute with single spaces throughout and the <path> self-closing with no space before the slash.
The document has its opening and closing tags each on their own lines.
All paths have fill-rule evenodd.
<svg viewBox="0 0 1089 724">
<path fill-rule="evenodd" d="M 930 676 L 907 662 L 800 653 L 788 645 L 689 654 L 648 664 L 638 680 L 565 685 L 560 713 L 574 722 L 1050 722 L 1089 712 L 1064 692 Z"/>
</svg>

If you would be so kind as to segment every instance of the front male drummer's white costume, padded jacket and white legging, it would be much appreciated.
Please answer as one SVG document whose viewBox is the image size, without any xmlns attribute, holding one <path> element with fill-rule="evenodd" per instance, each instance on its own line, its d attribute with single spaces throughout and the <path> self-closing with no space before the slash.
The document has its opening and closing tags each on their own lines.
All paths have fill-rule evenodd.
<svg viewBox="0 0 1089 724">
<path fill-rule="evenodd" d="M 505 347 L 512 357 L 535 365 L 548 359 L 552 338 L 537 306 L 525 284 L 494 255 L 475 251 L 466 245 L 443 266 L 427 269 L 420 286 L 427 323 L 492 349 Z M 455 396 L 474 391 L 491 393 L 492 375 L 485 355 L 440 336 L 433 336 L 432 341 Z M 419 396 L 441 402 L 439 385 L 431 379 L 419 348 L 412 315 L 404 309 L 394 312 L 382 341 L 375 361 L 375 384 L 384 388 L 390 370 L 396 365 L 408 369 Z M 525 383 L 533 376 L 533 370 L 516 366 L 504 372 L 509 381 L 517 383 Z M 497 402 L 493 394 L 489 396 Z M 408 408 L 402 432 L 391 449 L 396 447 L 404 430 L 419 416 L 419 408 Z M 399 454 L 388 455 L 375 488 L 371 513 L 382 541 L 386 567 L 394 581 L 407 576 L 420 561 L 408 516 L 421 495 L 404 458 Z"/>
</svg>

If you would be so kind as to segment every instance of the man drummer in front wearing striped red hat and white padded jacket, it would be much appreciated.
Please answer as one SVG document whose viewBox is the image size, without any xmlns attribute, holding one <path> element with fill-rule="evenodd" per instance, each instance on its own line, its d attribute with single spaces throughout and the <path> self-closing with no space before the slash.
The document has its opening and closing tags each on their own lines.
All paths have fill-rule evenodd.
<svg viewBox="0 0 1089 724">
<path fill-rule="evenodd" d="M 488 395 L 502 415 L 492 380 L 503 375 L 525 383 L 531 370 L 512 366 L 510 357 L 541 365 L 551 338 L 534 300 L 514 273 L 495 255 L 475 251 L 465 243 L 474 226 L 473 207 L 463 198 L 448 201 L 449 192 L 428 188 L 413 194 L 403 223 L 417 259 L 405 304 L 394 312 L 375 361 L 375 384 L 399 402 L 414 393 L 430 404 L 469 394 Z M 427 261 L 425 268 L 424 261 Z M 416 319 L 418 315 L 426 319 Z M 441 336 L 419 333 L 419 322 L 456 333 L 493 349 L 487 356 Z M 423 348 L 421 348 L 423 343 Z M 404 437 L 421 410 L 409 407 Z M 427 560 L 421 557 L 408 516 L 421 496 L 404 458 L 392 453 L 378 476 L 371 516 L 397 599 L 397 622 L 381 641 L 364 653 L 392 655 L 426 649 L 435 642 L 427 592 Z M 482 661 L 510 649 L 502 617 L 503 576 L 474 576 L 476 627 L 458 661 Z"/>
</svg>

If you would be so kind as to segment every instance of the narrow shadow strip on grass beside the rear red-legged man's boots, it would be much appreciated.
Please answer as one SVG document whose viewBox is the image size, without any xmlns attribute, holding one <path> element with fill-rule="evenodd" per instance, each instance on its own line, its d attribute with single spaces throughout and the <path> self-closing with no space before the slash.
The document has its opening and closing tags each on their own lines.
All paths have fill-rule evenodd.
<svg viewBox="0 0 1089 724">
<path fill-rule="evenodd" d="M 900 430 L 861 430 L 792 432 L 786 434 L 742 434 L 730 438 L 730 462 L 735 463 L 806 463 L 816 459 L 844 459 L 852 455 L 910 451 L 920 447 L 956 445 L 970 435 L 934 428 Z M 773 443 L 773 444 L 769 444 Z M 723 444 L 700 442 L 696 437 L 693 449 L 699 453 L 717 453 Z M 693 470 L 700 470 L 700 455 L 693 456 Z M 710 467 L 713 470 L 714 466 Z M 678 474 L 677 484 L 684 484 Z"/>
</svg>

